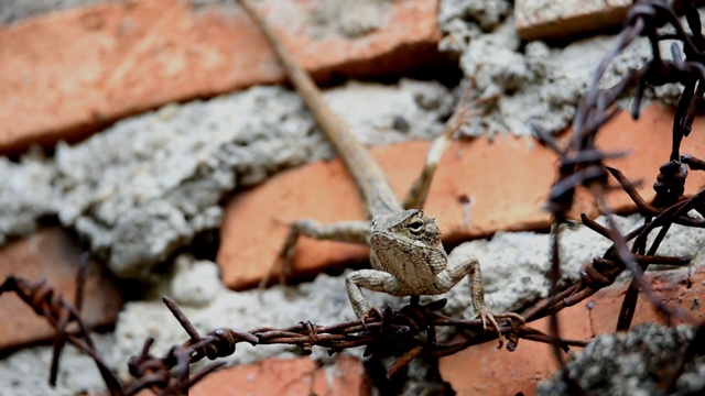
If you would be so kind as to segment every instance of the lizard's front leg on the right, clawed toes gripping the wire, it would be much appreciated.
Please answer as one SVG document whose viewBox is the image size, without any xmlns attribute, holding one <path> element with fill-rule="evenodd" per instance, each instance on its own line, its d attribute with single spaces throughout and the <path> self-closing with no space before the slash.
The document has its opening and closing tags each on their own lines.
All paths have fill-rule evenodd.
<svg viewBox="0 0 705 396">
<path fill-rule="evenodd" d="M 451 257 L 449 257 L 451 258 Z M 518 320 L 522 324 L 524 318 L 514 312 L 494 314 L 485 304 L 485 282 L 482 280 L 482 272 L 480 271 L 480 262 L 474 255 L 452 256 L 448 266 L 436 275 L 433 282 L 434 290 L 429 294 L 443 294 L 453 288 L 460 282 L 465 275 L 469 277 L 470 296 L 473 297 L 473 309 L 475 316 L 482 320 L 482 328 L 487 328 L 489 321 L 499 337 L 499 348 L 503 344 L 505 337 L 499 331 L 497 319 Z"/>
</svg>

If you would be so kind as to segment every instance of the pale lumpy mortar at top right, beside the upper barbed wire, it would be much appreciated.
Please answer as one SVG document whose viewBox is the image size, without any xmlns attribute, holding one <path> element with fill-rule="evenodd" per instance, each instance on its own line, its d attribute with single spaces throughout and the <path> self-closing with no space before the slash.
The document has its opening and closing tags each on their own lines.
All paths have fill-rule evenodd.
<svg viewBox="0 0 705 396">
<path fill-rule="evenodd" d="M 587 90 L 593 70 L 615 46 L 615 36 L 595 36 L 550 47 L 543 42 L 521 45 L 513 18 L 503 12 L 506 1 L 490 1 L 489 20 L 478 14 L 473 1 L 441 1 L 440 22 L 445 33 L 440 47 L 457 54 L 466 76 L 474 77 L 479 96 L 499 96 L 479 122 L 465 128 L 467 135 L 514 133 L 531 135 L 530 121 L 558 133 L 571 123 L 575 106 Z M 481 7 L 478 7 L 481 8 Z M 499 10 L 497 10 L 499 8 Z M 670 58 L 668 45 L 662 46 Z M 601 87 L 610 87 L 651 56 L 646 40 L 639 40 L 612 62 Z M 673 86 L 647 89 L 646 98 L 673 102 L 680 90 Z M 629 100 L 622 101 L 628 106 Z"/>
</svg>

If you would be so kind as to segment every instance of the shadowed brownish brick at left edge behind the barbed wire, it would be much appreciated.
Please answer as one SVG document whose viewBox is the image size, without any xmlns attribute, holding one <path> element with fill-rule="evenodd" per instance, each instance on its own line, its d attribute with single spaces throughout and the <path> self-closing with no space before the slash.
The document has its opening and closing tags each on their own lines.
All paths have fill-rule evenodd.
<svg viewBox="0 0 705 396">
<path fill-rule="evenodd" d="M 0 248 L 0 280 L 14 274 L 46 279 L 67 301 L 74 301 L 76 268 L 83 250 L 59 228 L 47 228 Z M 82 318 L 88 328 L 115 324 L 122 297 L 105 267 L 88 265 Z M 0 295 L 0 350 L 53 338 L 46 319 L 36 316 L 14 293 Z"/>
</svg>

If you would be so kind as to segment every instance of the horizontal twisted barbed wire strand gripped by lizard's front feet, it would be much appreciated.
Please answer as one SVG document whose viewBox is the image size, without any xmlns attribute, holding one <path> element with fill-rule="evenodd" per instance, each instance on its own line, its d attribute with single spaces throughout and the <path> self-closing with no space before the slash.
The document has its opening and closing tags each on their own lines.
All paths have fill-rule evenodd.
<svg viewBox="0 0 705 396">
<path fill-rule="evenodd" d="M 193 385 L 194 377 L 200 380 L 220 366 L 218 363 L 208 365 L 188 377 L 191 363 L 204 358 L 215 360 L 231 355 L 236 351 L 236 345 L 241 342 L 252 345 L 296 345 L 304 354 L 311 354 L 314 345 L 326 348 L 329 354 L 344 349 L 366 346 L 365 355 L 397 358 L 388 367 L 388 376 L 391 377 L 417 356 L 446 356 L 498 337 L 494 331 L 485 332 L 480 319 L 453 319 L 436 312 L 445 306 L 445 299 L 420 305 L 417 298 L 413 298 L 411 304 L 399 311 L 388 306 L 379 317 L 367 319 L 365 323 L 361 320 L 333 326 L 300 322 L 285 329 L 257 328 L 250 331 L 221 328 L 202 337 L 175 301 L 169 297 L 164 297 L 163 300 L 191 339 L 182 345 L 172 348 L 161 358 L 149 353 L 153 340 L 148 339 L 142 352 L 130 359 L 130 373 L 137 381 L 127 388 L 127 395 L 143 388 L 150 388 L 158 395 L 182 395 L 189 385 Z M 454 327 L 459 331 L 466 333 L 469 331 L 474 334 L 462 342 L 440 344 L 436 342 L 436 327 Z M 544 343 L 556 342 L 547 334 L 528 326 L 518 324 L 516 321 L 500 326 L 499 330 L 508 336 L 509 350 L 517 348 L 519 339 Z M 586 344 L 585 341 L 578 340 L 557 340 L 557 342 L 565 350 L 568 346 Z M 170 375 L 173 369 L 175 374 Z"/>
</svg>

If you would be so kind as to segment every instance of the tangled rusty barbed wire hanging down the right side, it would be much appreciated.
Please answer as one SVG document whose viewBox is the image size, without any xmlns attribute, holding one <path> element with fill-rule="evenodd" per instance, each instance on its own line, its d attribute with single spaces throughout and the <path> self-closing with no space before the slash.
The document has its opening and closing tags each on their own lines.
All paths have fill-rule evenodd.
<svg viewBox="0 0 705 396">
<path fill-rule="evenodd" d="M 690 30 L 682 25 L 679 13 L 685 16 Z M 662 33 L 662 29 L 670 26 L 672 31 Z M 639 37 L 647 37 L 651 47 L 651 59 L 639 69 L 630 72 L 618 84 L 609 89 L 599 89 L 599 81 L 605 76 L 615 58 Z M 665 59 L 659 46 L 660 43 L 672 41 L 670 46 L 672 59 Z M 679 46 L 676 43 L 680 43 Z M 702 215 L 705 193 L 701 191 L 690 199 L 684 199 L 684 184 L 687 167 L 702 170 L 705 163 L 692 156 L 681 155 L 680 145 L 683 138 L 692 131 L 693 121 L 697 114 L 703 94 L 705 92 L 705 38 L 702 34 L 699 14 L 692 1 L 638 0 L 627 13 L 627 20 L 612 51 L 600 62 L 588 82 L 588 90 L 579 101 L 573 120 L 573 139 L 565 148 L 561 148 L 556 141 L 546 132 L 534 125 L 536 135 L 560 158 L 557 182 L 553 185 L 546 210 L 553 216 L 553 242 L 551 258 L 551 295 L 544 304 L 527 314 L 531 320 L 542 316 L 551 316 L 551 333 L 558 337 L 558 320 L 556 312 L 581 301 L 599 288 L 612 284 L 616 277 L 627 268 L 632 275 L 620 309 L 617 330 L 626 330 L 634 314 L 637 296 L 641 289 L 649 301 L 657 309 L 671 316 L 680 317 L 692 323 L 697 320 L 680 309 L 670 308 L 653 296 L 651 288 L 644 280 L 643 272 L 650 264 L 685 265 L 687 257 L 666 257 L 657 255 L 657 251 L 672 224 L 686 227 L 705 226 L 705 221 L 688 217 L 690 210 Z M 599 129 L 610 121 L 619 109 L 616 101 L 633 89 L 632 118 L 638 119 L 641 110 L 647 85 L 662 86 L 670 82 L 683 85 L 683 94 L 676 108 L 672 146 L 669 162 L 661 166 L 653 185 L 655 197 L 647 204 L 638 194 L 633 185 L 619 170 L 605 166 L 604 161 L 623 156 L 626 153 L 606 153 L 596 147 L 596 136 Z M 614 176 L 621 188 L 627 191 L 644 216 L 643 226 L 628 233 L 622 233 L 614 219 L 614 211 L 607 205 L 605 194 L 608 191 L 608 177 Z M 593 260 L 581 272 L 581 282 L 565 290 L 558 292 L 560 278 L 560 224 L 567 221 L 567 213 L 573 206 L 575 190 L 584 186 L 595 198 L 598 208 L 605 215 L 608 227 L 582 216 L 583 223 L 603 237 L 609 239 L 612 245 L 601 257 Z M 654 240 L 647 249 L 647 238 L 660 228 Z M 632 241 L 631 248 L 628 242 Z M 560 348 L 554 348 L 556 361 L 563 365 Z M 565 371 L 564 371 L 565 373 Z M 567 376 L 564 381 L 568 386 L 576 386 Z"/>
</svg>

